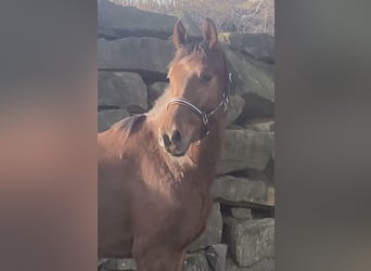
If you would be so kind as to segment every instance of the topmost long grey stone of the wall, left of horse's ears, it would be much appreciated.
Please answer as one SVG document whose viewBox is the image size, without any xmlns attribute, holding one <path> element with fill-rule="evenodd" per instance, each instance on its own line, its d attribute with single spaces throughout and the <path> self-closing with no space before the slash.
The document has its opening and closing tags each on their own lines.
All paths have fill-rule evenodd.
<svg viewBox="0 0 371 271">
<path fill-rule="evenodd" d="M 156 37 L 166 39 L 172 35 L 177 17 L 123 7 L 107 0 L 98 2 L 98 37 L 119 39 L 124 37 Z"/>
</svg>

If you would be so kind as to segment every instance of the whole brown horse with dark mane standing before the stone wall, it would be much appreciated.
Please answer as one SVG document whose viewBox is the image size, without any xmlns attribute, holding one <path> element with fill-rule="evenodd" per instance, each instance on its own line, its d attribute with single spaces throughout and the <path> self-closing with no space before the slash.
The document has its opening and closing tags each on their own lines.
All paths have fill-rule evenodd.
<svg viewBox="0 0 371 271">
<path fill-rule="evenodd" d="M 143 115 L 98 136 L 99 257 L 133 257 L 139 271 L 182 270 L 203 232 L 225 137 L 228 76 L 215 24 L 190 41 L 174 27 L 169 87 Z"/>
</svg>

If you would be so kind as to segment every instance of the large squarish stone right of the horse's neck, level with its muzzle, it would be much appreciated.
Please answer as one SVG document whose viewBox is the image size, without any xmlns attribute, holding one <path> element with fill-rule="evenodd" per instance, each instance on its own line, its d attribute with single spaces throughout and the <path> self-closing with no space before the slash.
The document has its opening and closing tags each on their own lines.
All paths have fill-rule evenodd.
<svg viewBox="0 0 371 271">
<path fill-rule="evenodd" d="M 248 129 L 226 130 L 225 150 L 217 173 L 244 169 L 263 171 L 274 147 L 274 132 Z"/>
</svg>

